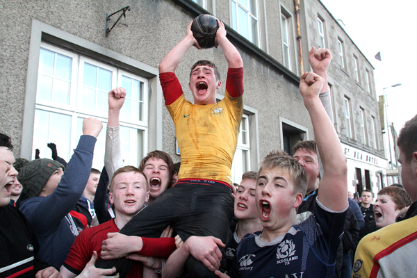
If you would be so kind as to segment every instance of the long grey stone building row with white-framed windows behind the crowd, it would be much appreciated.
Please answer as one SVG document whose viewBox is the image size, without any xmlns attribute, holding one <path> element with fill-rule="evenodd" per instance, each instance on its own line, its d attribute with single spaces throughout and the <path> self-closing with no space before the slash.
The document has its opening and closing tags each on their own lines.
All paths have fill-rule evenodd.
<svg viewBox="0 0 417 278">
<path fill-rule="evenodd" d="M 50 157 L 47 142 L 55 142 L 58 155 L 68 160 L 81 134 L 82 119 L 98 117 L 105 125 L 106 93 L 124 86 L 129 91 L 120 117 L 125 163 L 138 165 L 154 149 L 179 161 L 158 63 L 201 13 L 211 13 L 227 25 L 228 38 L 240 51 L 245 67 L 245 112 L 234 181 L 239 182 L 247 170 L 257 170 L 270 150 L 290 152 L 297 140 L 314 138 L 298 91 L 302 64 L 293 0 L 0 0 L 0 4 L 3 14 L 13 18 L 13 23 L 0 24 L 0 130 L 13 138 L 17 156 L 33 158 L 38 148 L 40 157 Z M 130 7 L 126 17 L 106 36 L 106 14 L 126 6 Z M 110 18 L 110 27 L 121 14 Z M 318 18 L 324 26 L 320 32 Z M 383 161 L 372 65 L 318 0 L 301 1 L 300 33 L 304 70 L 310 70 L 308 50 L 320 46 L 321 38 L 332 51 L 329 85 L 334 125 L 349 149 L 348 159 L 357 150 L 372 156 L 371 161 Z M 338 60 L 338 40 L 343 42 L 343 66 Z M 357 59 L 357 81 L 353 57 Z M 190 66 L 202 59 L 213 60 L 222 80 L 226 78 L 222 49 L 190 49 L 176 71 L 189 100 Z M 223 95 L 224 86 L 218 99 Z M 103 166 L 104 138 L 103 131 L 93 167 Z M 356 156 L 352 157 L 354 161 Z M 375 162 L 366 159 L 360 162 L 361 173 L 368 170 L 370 186 L 377 188 L 379 168 L 374 169 Z M 357 172 L 352 176 L 351 170 L 349 174 L 353 188 L 359 177 Z"/>
</svg>

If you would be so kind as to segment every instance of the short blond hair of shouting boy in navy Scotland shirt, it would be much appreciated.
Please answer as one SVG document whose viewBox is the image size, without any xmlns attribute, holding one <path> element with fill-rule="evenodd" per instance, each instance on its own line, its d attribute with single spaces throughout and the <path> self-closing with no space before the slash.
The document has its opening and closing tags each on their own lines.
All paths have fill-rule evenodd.
<svg viewBox="0 0 417 278">
<path fill-rule="evenodd" d="M 287 170 L 294 181 L 294 194 L 301 193 L 303 197 L 306 195 L 308 181 L 307 174 L 304 167 L 302 167 L 298 161 L 296 161 L 283 150 L 272 151 L 267 156 L 265 156 L 261 162 L 256 179 L 259 179 L 259 175 L 263 169 L 270 168 Z"/>
</svg>

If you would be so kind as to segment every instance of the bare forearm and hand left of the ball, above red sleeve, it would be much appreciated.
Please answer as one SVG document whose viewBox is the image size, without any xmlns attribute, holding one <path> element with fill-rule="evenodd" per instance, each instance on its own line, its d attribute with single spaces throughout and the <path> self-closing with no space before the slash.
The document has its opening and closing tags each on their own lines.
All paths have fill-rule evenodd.
<svg viewBox="0 0 417 278">
<path fill-rule="evenodd" d="M 191 24 L 193 24 L 193 22 L 188 24 L 186 36 L 173 49 L 171 49 L 170 52 L 168 52 L 168 54 L 161 60 L 161 63 L 159 63 L 160 74 L 163 72 L 175 72 L 179 61 L 191 47 L 195 46 L 197 49 L 201 49 L 197 40 L 195 40 L 193 36 Z"/>
</svg>

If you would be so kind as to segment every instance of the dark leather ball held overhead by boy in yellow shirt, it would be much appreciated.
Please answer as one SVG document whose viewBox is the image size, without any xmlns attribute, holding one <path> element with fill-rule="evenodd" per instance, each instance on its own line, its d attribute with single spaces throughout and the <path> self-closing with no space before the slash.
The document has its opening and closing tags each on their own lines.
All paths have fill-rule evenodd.
<svg viewBox="0 0 417 278">
<path fill-rule="evenodd" d="M 217 19 L 213 15 L 199 15 L 193 19 L 191 31 L 194 38 L 202 48 L 211 48 L 215 46 L 215 34 L 219 28 Z"/>
</svg>

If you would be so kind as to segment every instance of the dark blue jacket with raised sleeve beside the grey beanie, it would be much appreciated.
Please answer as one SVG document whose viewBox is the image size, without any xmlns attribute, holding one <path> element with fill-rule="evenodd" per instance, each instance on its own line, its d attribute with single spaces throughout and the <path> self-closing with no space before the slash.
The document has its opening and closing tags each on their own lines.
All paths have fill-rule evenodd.
<svg viewBox="0 0 417 278">
<path fill-rule="evenodd" d="M 38 258 L 56 269 L 63 265 L 78 235 L 68 213 L 83 195 L 90 177 L 96 141 L 93 136 L 81 136 L 54 193 L 47 197 L 31 197 L 20 205 L 38 238 Z"/>
</svg>

